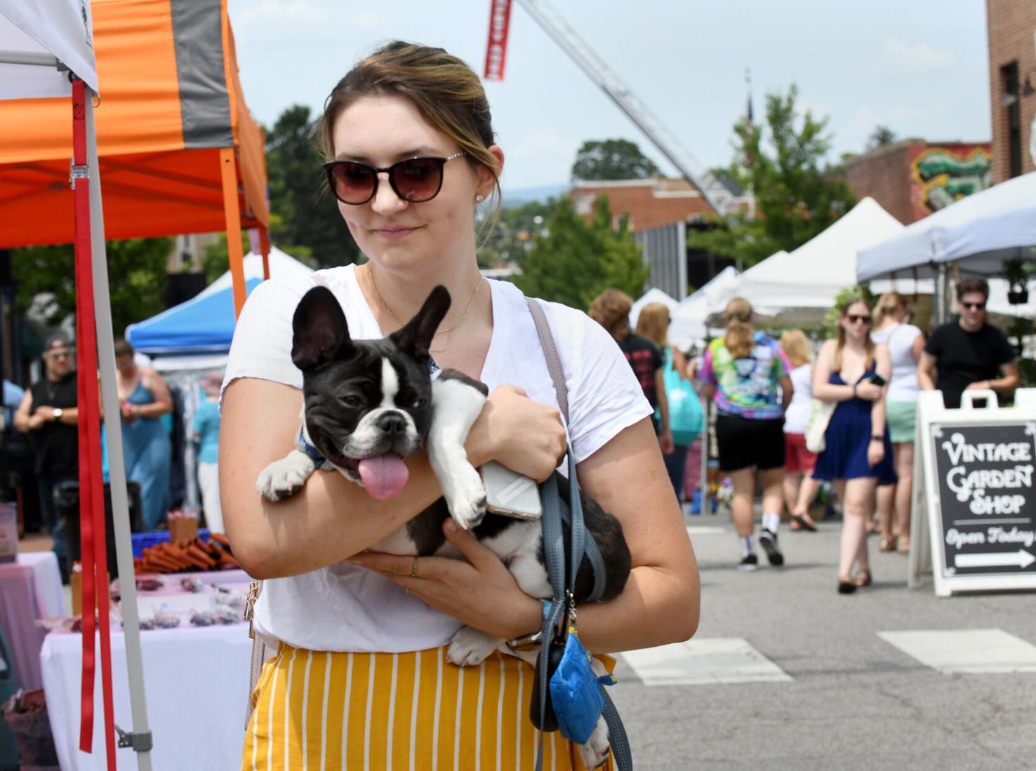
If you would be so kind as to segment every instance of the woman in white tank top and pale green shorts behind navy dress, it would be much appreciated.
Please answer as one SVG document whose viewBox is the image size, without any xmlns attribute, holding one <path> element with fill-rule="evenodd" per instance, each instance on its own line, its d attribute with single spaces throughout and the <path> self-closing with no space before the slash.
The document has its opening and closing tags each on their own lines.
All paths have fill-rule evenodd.
<svg viewBox="0 0 1036 771">
<path fill-rule="evenodd" d="M 917 362 L 924 350 L 924 335 L 908 324 L 910 309 L 897 292 L 886 292 L 874 308 L 870 338 L 889 349 L 892 378 L 886 396 L 889 435 L 895 455 L 896 484 L 877 488 L 880 548 L 910 552 L 910 504 L 914 488 L 914 426 L 917 418 Z"/>
</svg>

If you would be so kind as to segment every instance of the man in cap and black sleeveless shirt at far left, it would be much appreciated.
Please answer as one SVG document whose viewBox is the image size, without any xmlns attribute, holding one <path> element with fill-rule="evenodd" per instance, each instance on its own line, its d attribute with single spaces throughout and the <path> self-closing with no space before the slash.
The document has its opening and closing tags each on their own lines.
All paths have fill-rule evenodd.
<svg viewBox="0 0 1036 771">
<path fill-rule="evenodd" d="M 69 568 L 65 563 L 67 548 L 64 528 L 54 506 L 54 488 L 61 482 L 79 481 L 75 353 L 67 335 L 59 332 L 48 337 L 42 354 L 44 377 L 25 392 L 15 413 L 15 427 L 29 435 L 44 526 L 54 538 L 54 554 L 65 582 Z"/>
</svg>

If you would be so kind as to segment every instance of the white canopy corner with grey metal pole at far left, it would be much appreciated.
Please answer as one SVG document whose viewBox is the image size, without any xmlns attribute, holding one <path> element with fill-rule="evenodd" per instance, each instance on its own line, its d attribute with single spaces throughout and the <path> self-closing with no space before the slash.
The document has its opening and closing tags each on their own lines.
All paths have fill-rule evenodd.
<svg viewBox="0 0 1036 771">
<path fill-rule="evenodd" d="M 108 290 L 108 266 L 105 251 L 104 219 L 100 203 L 100 179 L 97 174 L 97 141 L 93 117 L 93 99 L 97 97 L 96 60 L 93 53 L 93 28 L 91 23 L 89 0 L 0 0 L 0 99 L 28 98 L 68 98 L 68 119 L 76 125 L 76 157 L 73 160 L 71 179 L 80 185 L 88 183 L 88 203 L 86 197 L 81 199 L 82 208 L 77 211 L 77 251 L 88 248 L 92 255 L 89 269 L 85 275 L 77 276 L 80 280 L 92 283 L 83 287 L 77 286 L 79 300 L 89 306 L 94 303 L 94 318 L 80 318 L 80 328 L 77 337 L 80 343 L 80 365 L 85 369 L 89 363 L 92 369 L 95 361 L 100 373 L 100 390 L 104 408 L 110 415 L 118 414 L 118 393 L 115 385 L 115 355 L 113 350 L 111 299 Z M 74 85 L 69 75 L 81 81 L 83 87 Z M 85 96 L 85 98 L 84 98 Z M 82 99 L 81 112 L 74 109 L 73 102 Z M 74 120 L 75 116 L 75 120 Z M 79 206 L 80 203 L 77 203 Z M 86 211 L 88 209 L 88 212 Z M 85 216 L 83 216 L 85 215 Z M 77 265 L 81 265 L 77 257 Z M 83 305 L 81 305 L 83 306 Z M 95 334 L 93 324 L 96 324 Z M 96 338 L 96 354 L 92 349 Z M 88 342 L 88 345 L 83 345 Z M 86 356 L 83 351 L 87 350 Z M 84 360 L 85 359 L 85 360 Z M 81 372 L 81 377 L 85 375 Z M 91 376 L 92 377 L 92 374 Z M 88 399 L 89 404 L 89 399 Z M 94 424 L 96 407 L 80 405 L 80 420 L 83 424 Z M 81 427 L 82 431 L 82 427 Z M 94 439 L 96 439 L 94 437 Z M 128 670 L 131 710 L 133 715 L 133 731 L 126 733 L 126 740 L 137 751 L 140 769 L 151 768 L 150 746 L 151 735 L 147 725 L 147 708 L 144 702 L 143 659 L 140 648 L 140 626 L 137 617 L 137 594 L 133 566 L 133 546 L 130 536 L 130 513 L 126 500 L 125 466 L 122 454 L 122 434 L 111 432 L 108 437 L 108 449 L 111 467 L 111 495 L 114 512 L 114 529 L 118 572 L 122 587 L 122 625 L 125 631 L 126 665 Z M 96 447 L 99 458 L 99 444 Z M 99 464 L 96 484 L 99 481 Z M 81 503 L 88 495 L 96 491 L 83 491 Z M 97 493 L 99 495 L 99 493 Z M 96 516 L 96 512 L 94 512 Z M 99 513 L 99 522 L 104 523 L 104 511 Z M 103 532 L 98 534 L 103 543 Z M 85 557 L 85 555 L 84 555 Z M 98 576 L 105 575 L 100 566 L 96 571 Z M 84 575 L 84 589 L 87 576 Z M 99 582 L 98 582 L 99 583 Z M 98 595 L 106 596 L 107 585 L 104 585 Z M 92 606 L 93 599 L 87 598 Z M 108 622 L 107 604 L 102 605 L 100 620 Z M 92 650 L 93 623 L 84 622 L 84 639 L 89 636 Z M 102 628 L 102 659 L 103 674 L 107 675 L 105 687 L 106 726 L 112 725 L 111 708 L 111 662 L 105 656 L 107 645 L 107 629 Z M 107 658 L 107 661 L 106 661 Z M 92 689 L 91 689 L 92 691 Z M 86 731 L 84 721 L 81 747 L 89 748 L 92 742 L 92 731 Z M 108 764 L 114 768 L 114 731 L 106 732 L 106 750 Z"/>
</svg>

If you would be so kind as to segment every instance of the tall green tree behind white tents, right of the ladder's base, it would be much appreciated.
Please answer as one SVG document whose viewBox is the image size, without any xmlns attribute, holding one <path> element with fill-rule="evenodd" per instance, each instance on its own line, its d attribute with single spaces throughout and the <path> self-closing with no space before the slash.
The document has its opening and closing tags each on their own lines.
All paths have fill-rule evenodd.
<svg viewBox="0 0 1036 771">
<path fill-rule="evenodd" d="M 796 108 L 798 88 L 767 95 L 766 125 L 735 124 L 736 161 L 727 173 L 755 197 L 755 212 L 726 217 L 725 227 L 688 236 L 707 249 L 754 265 L 775 251 L 798 248 L 856 203 L 844 180 L 822 167 L 831 149 L 827 119 Z"/>
</svg>

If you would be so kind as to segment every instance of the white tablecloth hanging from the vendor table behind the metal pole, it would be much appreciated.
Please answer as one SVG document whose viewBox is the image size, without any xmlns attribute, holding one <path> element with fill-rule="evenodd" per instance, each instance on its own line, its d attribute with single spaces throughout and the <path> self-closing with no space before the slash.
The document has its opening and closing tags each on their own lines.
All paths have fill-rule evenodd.
<svg viewBox="0 0 1036 771">
<path fill-rule="evenodd" d="M 40 653 L 47 711 L 62 771 L 104 771 L 99 650 L 94 682 L 93 753 L 79 750 L 82 635 L 53 631 Z M 154 771 L 226 771 L 241 765 L 252 641 L 248 625 L 141 632 L 144 689 Z M 112 629 L 115 723 L 133 730 L 125 637 Z M 116 749 L 119 771 L 136 771 L 132 749 Z"/>
</svg>

